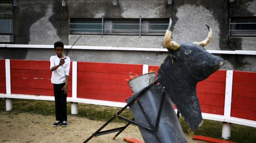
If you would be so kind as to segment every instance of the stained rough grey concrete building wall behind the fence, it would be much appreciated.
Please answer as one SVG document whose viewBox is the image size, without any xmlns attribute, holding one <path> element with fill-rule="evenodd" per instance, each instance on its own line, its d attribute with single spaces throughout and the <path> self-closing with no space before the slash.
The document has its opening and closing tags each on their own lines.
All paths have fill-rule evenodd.
<svg viewBox="0 0 256 143">
<path fill-rule="evenodd" d="M 69 18 L 172 18 L 172 41 L 202 41 L 208 34 L 204 23 L 213 31 L 207 50 L 253 50 L 256 37 L 229 37 L 229 17 L 256 16 L 255 0 L 19 0 L 14 7 L 14 43 L 53 45 L 62 41 L 73 45 L 79 35 L 69 35 Z M 5 43 L 6 44 L 6 43 Z M 164 48 L 163 36 L 83 35 L 76 45 Z M 0 58 L 49 60 L 53 49 L 1 48 Z M 67 50 L 66 50 L 67 52 Z M 72 61 L 132 63 L 160 65 L 167 52 L 78 50 L 69 56 Z M 222 69 L 256 72 L 256 56 L 219 54 Z"/>
</svg>

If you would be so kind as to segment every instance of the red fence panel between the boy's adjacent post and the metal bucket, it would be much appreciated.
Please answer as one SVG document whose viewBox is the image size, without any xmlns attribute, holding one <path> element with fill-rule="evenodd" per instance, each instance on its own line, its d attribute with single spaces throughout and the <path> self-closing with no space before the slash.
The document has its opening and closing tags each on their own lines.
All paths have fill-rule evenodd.
<svg viewBox="0 0 256 143">
<path fill-rule="evenodd" d="M 132 96 L 128 80 L 141 75 L 143 65 L 77 62 L 77 97 L 126 102 Z"/>
</svg>

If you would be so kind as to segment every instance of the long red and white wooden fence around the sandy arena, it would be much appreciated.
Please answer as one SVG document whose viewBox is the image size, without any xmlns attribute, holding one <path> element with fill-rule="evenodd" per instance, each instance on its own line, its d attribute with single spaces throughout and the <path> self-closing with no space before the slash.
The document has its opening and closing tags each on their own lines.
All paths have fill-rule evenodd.
<svg viewBox="0 0 256 143">
<path fill-rule="evenodd" d="M 77 103 L 124 107 L 132 96 L 131 76 L 159 66 L 140 64 L 71 62 L 69 93 L 71 113 Z M 50 61 L 0 60 L 0 97 L 6 110 L 11 98 L 54 100 Z M 221 121 L 222 137 L 230 137 L 230 123 L 256 127 L 256 72 L 218 70 L 197 85 L 203 119 Z"/>
</svg>

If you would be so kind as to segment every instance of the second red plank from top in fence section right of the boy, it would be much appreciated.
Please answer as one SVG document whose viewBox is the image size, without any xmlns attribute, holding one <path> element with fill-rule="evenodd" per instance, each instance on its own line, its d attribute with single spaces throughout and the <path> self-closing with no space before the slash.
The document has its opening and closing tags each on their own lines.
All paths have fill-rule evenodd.
<svg viewBox="0 0 256 143">
<path fill-rule="evenodd" d="M 98 82 L 98 83 L 116 83 L 128 85 L 127 81 L 131 79 L 128 74 L 110 74 L 110 73 L 97 73 L 97 72 L 78 72 L 77 80 L 85 82 Z"/>
</svg>

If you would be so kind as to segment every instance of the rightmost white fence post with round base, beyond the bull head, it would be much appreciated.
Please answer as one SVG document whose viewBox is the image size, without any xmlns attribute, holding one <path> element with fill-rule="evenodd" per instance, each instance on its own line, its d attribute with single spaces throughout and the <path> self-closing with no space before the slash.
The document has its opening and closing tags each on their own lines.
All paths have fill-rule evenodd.
<svg viewBox="0 0 256 143">
<path fill-rule="evenodd" d="M 224 116 L 230 117 L 232 100 L 233 71 L 228 70 L 226 74 L 225 106 Z M 222 138 L 228 140 L 231 135 L 231 123 L 222 122 Z"/>
</svg>

